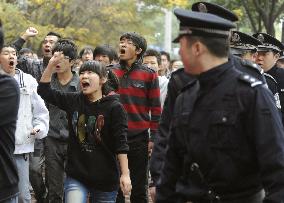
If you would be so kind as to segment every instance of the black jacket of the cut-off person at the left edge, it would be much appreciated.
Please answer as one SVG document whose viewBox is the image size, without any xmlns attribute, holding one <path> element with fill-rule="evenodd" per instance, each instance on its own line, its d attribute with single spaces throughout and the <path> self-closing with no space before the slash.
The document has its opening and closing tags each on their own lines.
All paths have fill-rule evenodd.
<svg viewBox="0 0 284 203">
<path fill-rule="evenodd" d="M 0 74 L 0 202 L 19 192 L 14 160 L 19 101 L 20 91 L 16 80 Z"/>
</svg>

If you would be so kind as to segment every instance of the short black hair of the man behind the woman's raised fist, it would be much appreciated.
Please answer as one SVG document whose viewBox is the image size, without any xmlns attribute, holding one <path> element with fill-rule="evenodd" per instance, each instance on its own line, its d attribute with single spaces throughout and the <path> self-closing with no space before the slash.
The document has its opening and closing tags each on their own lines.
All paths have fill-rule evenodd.
<svg viewBox="0 0 284 203">
<path fill-rule="evenodd" d="M 77 47 L 70 39 L 59 39 L 52 49 L 52 54 L 57 51 L 62 51 L 65 56 L 70 58 L 69 60 L 77 58 Z"/>
</svg>

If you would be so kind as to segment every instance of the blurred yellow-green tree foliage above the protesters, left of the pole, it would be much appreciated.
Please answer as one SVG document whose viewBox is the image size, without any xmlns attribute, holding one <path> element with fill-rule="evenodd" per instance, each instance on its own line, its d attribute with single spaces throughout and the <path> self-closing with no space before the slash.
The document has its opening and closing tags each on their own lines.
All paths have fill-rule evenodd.
<svg viewBox="0 0 284 203">
<path fill-rule="evenodd" d="M 36 40 L 28 46 L 37 50 L 49 31 L 74 39 L 81 48 L 85 45 L 110 44 L 116 46 L 119 36 L 126 31 L 144 35 L 149 43 L 156 39 L 153 12 L 128 0 L 27 0 L 27 9 L 21 10 L 17 0 L 0 2 L 0 15 L 11 41 L 34 26 L 39 30 Z"/>
</svg>

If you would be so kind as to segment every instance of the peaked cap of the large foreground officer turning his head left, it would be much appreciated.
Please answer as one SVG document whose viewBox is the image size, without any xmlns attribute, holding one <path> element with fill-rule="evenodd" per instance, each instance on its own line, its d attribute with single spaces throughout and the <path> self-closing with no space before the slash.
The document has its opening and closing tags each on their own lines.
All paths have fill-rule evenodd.
<svg viewBox="0 0 284 203">
<path fill-rule="evenodd" d="M 175 43 L 183 35 L 227 38 L 230 29 L 235 28 L 233 22 L 209 13 L 177 8 L 174 14 L 180 21 L 179 35 L 173 41 Z"/>
</svg>

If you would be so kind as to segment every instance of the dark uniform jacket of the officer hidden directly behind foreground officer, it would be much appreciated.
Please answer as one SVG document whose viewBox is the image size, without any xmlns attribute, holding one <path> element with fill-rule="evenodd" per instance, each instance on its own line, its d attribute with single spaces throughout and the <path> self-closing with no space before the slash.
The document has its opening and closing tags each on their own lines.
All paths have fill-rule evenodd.
<svg viewBox="0 0 284 203">
<path fill-rule="evenodd" d="M 230 55 L 229 60 L 232 61 L 236 69 L 253 76 L 254 78 L 262 81 L 263 83 L 266 83 L 262 69 L 256 64 L 248 60 L 243 60 L 232 54 Z M 190 76 L 185 73 L 183 68 L 173 72 L 169 80 L 167 96 L 163 107 L 158 132 L 154 140 L 154 149 L 150 160 L 150 172 L 153 185 L 156 185 L 164 164 L 165 151 L 169 139 L 169 128 L 176 98 L 180 94 L 181 89 L 187 83 L 193 80 L 194 76 Z"/>
</svg>

